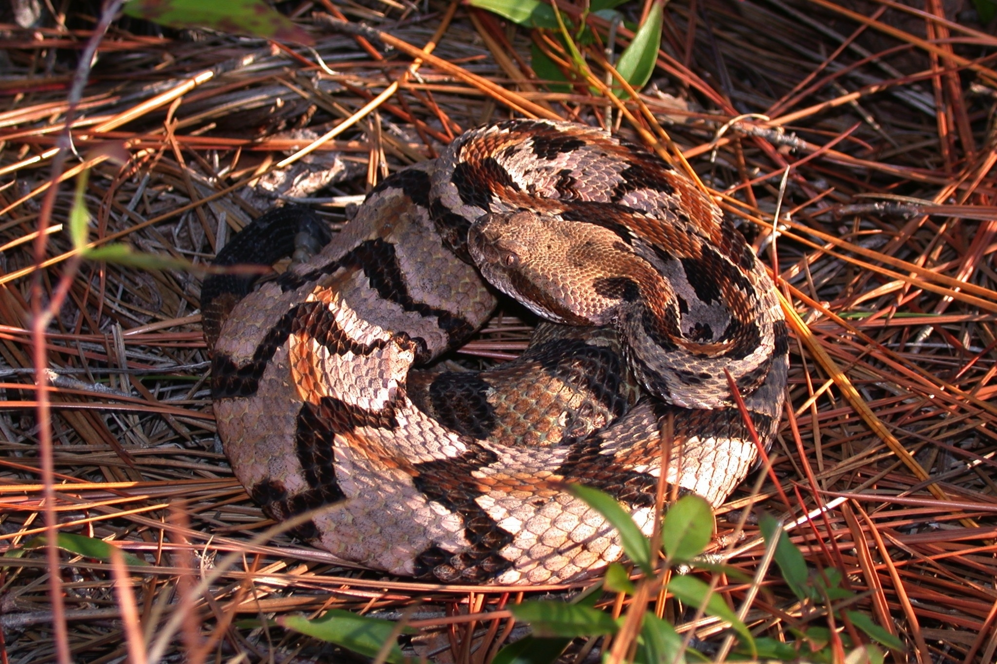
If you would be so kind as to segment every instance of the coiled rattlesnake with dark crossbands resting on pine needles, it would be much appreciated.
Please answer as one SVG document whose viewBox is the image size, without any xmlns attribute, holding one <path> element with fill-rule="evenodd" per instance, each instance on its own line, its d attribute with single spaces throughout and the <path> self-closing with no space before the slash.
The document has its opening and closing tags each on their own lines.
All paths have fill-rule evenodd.
<svg viewBox="0 0 997 664">
<path fill-rule="evenodd" d="M 664 472 L 722 504 L 782 414 L 788 330 L 771 278 L 685 175 L 605 131 L 508 120 L 387 178 L 341 232 L 266 213 L 215 265 L 298 261 L 201 294 L 218 433 L 250 496 L 357 564 L 460 583 L 553 583 L 622 555 L 566 486 L 647 534 Z M 309 258 L 310 257 L 310 258 Z M 435 360 L 498 292 L 541 320 L 488 370 Z M 453 364 L 453 363 L 451 363 Z M 670 465 L 661 430 L 673 417 Z"/>
</svg>

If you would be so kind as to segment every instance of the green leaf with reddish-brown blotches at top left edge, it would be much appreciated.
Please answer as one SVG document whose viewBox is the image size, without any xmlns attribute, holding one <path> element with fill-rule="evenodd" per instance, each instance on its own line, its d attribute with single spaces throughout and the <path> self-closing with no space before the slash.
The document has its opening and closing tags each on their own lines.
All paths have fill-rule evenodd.
<svg viewBox="0 0 997 664">
<path fill-rule="evenodd" d="M 130 0 L 125 13 L 170 28 L 211 28 L 277 42 L 315 43 L 263 0 Z"/>
</svg>

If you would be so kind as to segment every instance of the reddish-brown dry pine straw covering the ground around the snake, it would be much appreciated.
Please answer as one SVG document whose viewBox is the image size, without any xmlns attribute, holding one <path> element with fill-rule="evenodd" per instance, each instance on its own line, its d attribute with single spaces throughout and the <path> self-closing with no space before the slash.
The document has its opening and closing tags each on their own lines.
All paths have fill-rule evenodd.
<svg viewBox="0 0 997 664">
<path fill-rule="evenodd" d="M 395 43 L 332 34 L 322 22 L 313 27 L 314 52 L 111 25 L 72 111 L 79 156 L 61 169 L 72 179 L 92 167 L 92 240 L 202 265 L 270 204 L 248 195 L 246 182 L 307 144 L 286 132 L 321 135 L 348 117 L 354 123 L 311 155 L 322 168 L 338 159 L 346 177 L 306 194 L 333 223 L 386 172 L 434 156 L 463 129 L 510 109 L 619 122 L 622 134 L 645 141 L 663 143 L 664 128 L 778 267 L 800 317 L 792 407 L 772 450 L 772 476 L 754 500 L 796 518 L 847 497 L 795 529 L 793 541 L 813 565 L 844 571 L 860 593 L 853 608 L 904 639 L 908 652 L 894 661 L 993 661 L 997 40 L 972 22 L 968 6 L 957 13 L 939 0 L 917 10 L 890 0 L 676 2 L 642 104 L 609 114 L 611 105 L 591 93 L 594 82 L 547 92 L 531 80 L 528 33 L 493 15 L 459 9 L 437 59 L 406 74 L 412 54 L 450 18 L 447 6 L 284 4 L 305 26 L 313 11 L 332 12 L 390 29 Z M 68 287 L 46 337 L 56 372 L 54 514 L 67 532 L 115 541 L 155 564 L 131 569 L 130 591 L 116 594 L 113 565 L 62 553 L 61 638 L 74 660 L 125 656 L 126 630 L 131 656 L 141 659 L 142 644 L 152 647 L 177 612 L 187 619 L 166 641 L 170 656 L 330 657 L 329 646 L 294 632 L 233 620 L 327 608 L 397 617 L 415 607 L 407 616 L 422 632 L 412 641 L 417 652 L 486 661 L 512 628 L 502 607 L 517 591 L 386 579 L 336 566 L 284 536 L 251 543 L 271 524 L 232 479 L 215 439 L 199 276 L 72 260 L 57 227 L 68 221 L 71 184 L 60 187 L 51 213 L 44 201 L 74 68 L 97 16 L 87 6 L 65 21 L 43 10 L 37 29 L 0 26 L 8 73 L 0 81 L 0 548 L 20 555 L 5 560 L 0 576 L 4 661 L 49 661 L 60 637 L 45 554 L 23 549 L 44 530 L 33 281 L 45 302 Z M 634 18 L 641 10 L 623 9 Z M 604 38 L 604 22 L 589 20 Z M 629 34 L 621 28 L 618 39 Z M 564 58 L 556 40 L 535 38 Z M 602 81 L 598 53 L 589 56 Z M 391 82 L 394 95 L 357 113 Z M 108 140 L 124 141 L 126 166 L 92 151 Z M 773 242 L 777 208 L 783 225 Z M 41 222 L 51 232 L 39 269 Z M 510 309 L 463 360 L 514 355 L 530 325 Z M 718 515 L 722 544 L 753 500 L 751 484 Z M 757 534 L 753 523 L 743 541 Z M 231 552 L 241 554 L 217 566 Z M 762 548 L 738 552 L 732 564 L 753 573 Z M 193 584 L 212 572 L 196 594 Z M 740 606 L 746 586 L 724 577 L 718 591 Z M 678 622 L 692 615 L 665 597 L 657 608 Z M 747 618 L 759 634 L 792 638 L 791 628 L 827 624 L 820 609 L 800 605 L 770 572 Z M 724 637 L 709 620 L 681 629 L 695 630 L 707 649 Z"/>
</svg>

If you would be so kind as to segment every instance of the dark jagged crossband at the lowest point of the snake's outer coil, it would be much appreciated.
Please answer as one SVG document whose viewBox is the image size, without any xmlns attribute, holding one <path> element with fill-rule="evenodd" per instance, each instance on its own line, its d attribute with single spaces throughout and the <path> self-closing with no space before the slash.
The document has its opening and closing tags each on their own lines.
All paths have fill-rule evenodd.
<svg viewBox="0 0 997 664">
<path fill-rule="evenodd" d="M 513 539 L 502 530 L 475 499 L 482 496 L 472 478 L 473 471 L 494 464 L 498 456 L 479 445 L 470 445 L 460 456 L 415 465 L 419 475 L 412 479 L 416 488 L 464 520 L 468 551 L 449 553 L 432 547 L 416 556 L 415 575 L 445 581 L 481 582 L 494 578 L 512 566 L 497 552 Z"/>
</svg>

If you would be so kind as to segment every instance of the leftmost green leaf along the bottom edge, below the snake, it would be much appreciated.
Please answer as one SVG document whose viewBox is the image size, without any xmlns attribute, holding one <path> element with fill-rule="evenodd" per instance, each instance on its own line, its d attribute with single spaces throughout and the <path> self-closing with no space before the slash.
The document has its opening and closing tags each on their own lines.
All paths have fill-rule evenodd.
<svg viewBox="0 0 997 664">
<path fill-rule="evenodd" d="M 371 618 L 335 608 L 314 620 L 303 615 L 280 616 L 277 624 L 368 657 L 377 656 L 381 645 L 391 638 L 395 630 L 395 623 L 391 620 Z M 405 628 L 403 632 L 414 634 L 416 630 Z M 392 644 L 387 661 L 392 664 L 402 664 L 405 661 L 405 655 L 397 643 Z"/>
</svg>

